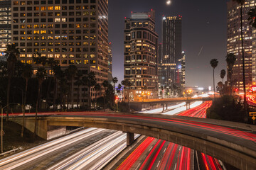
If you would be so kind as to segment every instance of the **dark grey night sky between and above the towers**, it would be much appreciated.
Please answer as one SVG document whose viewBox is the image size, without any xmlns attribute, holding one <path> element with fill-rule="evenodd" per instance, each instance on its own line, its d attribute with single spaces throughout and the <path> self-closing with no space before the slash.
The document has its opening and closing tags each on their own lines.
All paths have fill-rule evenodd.
<svg viewBox="0 0 256 170">
<path fill-rule="evenodd" d="M 210 67 L 213 58 L 219 61 L 215 69 L 217 84 L 221 80 L 220 70 L 226 67 L 226 1 L 172 0 L 171 5 L 167 6 L 166 0 L 109 0 L 113 77 L 117 77 L 119 83 L 124 79 L 124 17 L 129 18 L 131 11 L 144 12 L 153 8 L 156 11 L 159 42 L 162 15 L 183 17 L 182 49 L 186 51 L 186 86 L 213 86 L 213 69 Z"/>
</svg>

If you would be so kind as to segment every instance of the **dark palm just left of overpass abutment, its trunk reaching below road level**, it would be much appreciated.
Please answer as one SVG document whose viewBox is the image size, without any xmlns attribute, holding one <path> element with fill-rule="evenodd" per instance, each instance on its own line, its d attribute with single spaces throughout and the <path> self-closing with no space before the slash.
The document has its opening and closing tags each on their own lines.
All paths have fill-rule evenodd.
<svg viewBox="0 0 256 170">
<path fill-rule="evenodd" d="M 37 115 L 38 115 L 38 103 L 41 100 L 40 98 L 40 89 L 43 84 L 43 80 L 46 77 L 46 69 L 44 67 L 39 67 L 36 72 L 36 78 L 38 79 L 38 98 L 36 100 L 36 117 L 35 117 L 35 130 L 34 137 L 36 137 L 36 128 L 37 128 Z"/>
</svg>

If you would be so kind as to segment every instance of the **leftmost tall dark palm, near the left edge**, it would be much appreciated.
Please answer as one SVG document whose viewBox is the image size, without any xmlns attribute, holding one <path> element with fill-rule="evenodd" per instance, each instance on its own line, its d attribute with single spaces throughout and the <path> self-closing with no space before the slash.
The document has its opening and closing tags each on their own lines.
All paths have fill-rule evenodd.
<svg viewBox="0 0 256 170">
<path fill-rule="evenodd" d="M 10 89 L 11 89 L 11 78 L 14 76 L 15 64 L 17 62 L 17 57 L 19 54 L 19 50 L 15 44 L 7 45 L 6 50 L 7 58 L 7 74 L 8 74 L 8 86 L 7 86 L 7 112 L 6 112 L 6 121 L 9 120 L 9 102 L 10 102 Z"/>
</svg>

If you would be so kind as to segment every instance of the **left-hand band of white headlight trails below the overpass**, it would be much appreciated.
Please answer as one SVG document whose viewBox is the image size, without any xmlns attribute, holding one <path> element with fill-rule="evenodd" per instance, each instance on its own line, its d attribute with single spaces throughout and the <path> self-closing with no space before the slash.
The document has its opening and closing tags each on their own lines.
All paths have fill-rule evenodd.
<svg viewBox="0 0 256 170">
<path fill-rule="evenodd" d="M 75 132 L 74 134 L 1 159 L 0 169 L 43 169 L 45 166 L 48 166 L 48 164 L 53 164 L 57 161 L 56 155 L 62 154 L 70 149 L 70 147 L 74 147 L 74 145 L 78 145 L 79 142 L 85 142 L 85 144 L 87 144 L 90 138 L 94 138 L 93 140 L 97 141 L 98 138 L 104 137 L 106 134 L 109 135 L 110 133 L 112 133 L 110 130 L 97 128 L 88 128 L 80 132 Z M 58 157 L 58 160 L 61 158 L 62 157 Z M 47 161 L 46 164 L 46 159 L 51 161 Z"/>
</svg>

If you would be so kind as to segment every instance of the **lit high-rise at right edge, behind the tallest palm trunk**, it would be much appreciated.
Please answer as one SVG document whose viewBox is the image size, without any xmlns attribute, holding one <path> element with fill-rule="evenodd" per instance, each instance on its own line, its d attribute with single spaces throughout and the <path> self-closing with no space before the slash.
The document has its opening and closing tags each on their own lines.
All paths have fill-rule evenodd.
<svg viewBox="0 0 256 170">
<path fill-rule="evenodd" d="M 244 34 L 244 55 L 245 55 L 245 85 L 249 88 L 252 84 L 252 27 L 247 21 L 248 11 L 254 8 L 256 1 L 245 1 L 242 7 L 242 22 Z M 228 43 L 227 52 L 233 53 L 237 60 L 233 67 L 233 86 L 239 91 L 243 89 L 242 79 L 242 45 L 241 45 L 241 26 L 240 26 L 240 6 L 234 1 L 228 2 Z M 255 72 L 255 71 L 254 71 Z M 230 83 L 230 77 L 228 76 Z"/>
</svg>

